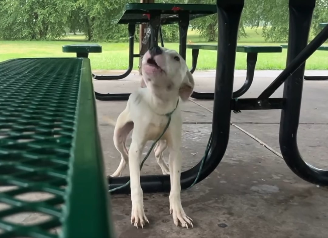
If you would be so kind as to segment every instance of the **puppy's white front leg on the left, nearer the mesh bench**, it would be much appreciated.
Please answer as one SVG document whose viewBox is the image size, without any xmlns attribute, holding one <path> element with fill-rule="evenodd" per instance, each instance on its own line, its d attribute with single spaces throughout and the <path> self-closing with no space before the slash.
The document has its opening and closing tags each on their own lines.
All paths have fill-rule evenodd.
<svg viewBox="0 0 328 238">
<path fill-rule="evenodd" d="M 145 146 L 142 130 L 135 129 L 132 133 L 132 142 L 129 149 L 129 169 L 131 179 L 131 224 L 143 228 L 145 221 L 149 223 L 143 205 L 143 192 L 140 185 L 140 157 Z"/>
</svg>

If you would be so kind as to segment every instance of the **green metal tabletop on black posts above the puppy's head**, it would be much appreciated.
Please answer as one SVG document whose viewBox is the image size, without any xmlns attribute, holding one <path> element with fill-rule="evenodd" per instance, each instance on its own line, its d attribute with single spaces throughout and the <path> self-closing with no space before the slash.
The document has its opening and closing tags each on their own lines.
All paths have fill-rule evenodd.
<svg viewBox="0 0 328 238">
<path fill-rule="evenodd" d="M 161 13 L 161 24 L 178 22 L 177 11 L 188 11 L 189 19 L 195 19 L 216 13 L 214 4 L 168 4 L 168 3 L 128 3 L 119 14 L 114 24 L 141 24 L 149 22 L 148 16 L 152 12 Z"/>
</svg>

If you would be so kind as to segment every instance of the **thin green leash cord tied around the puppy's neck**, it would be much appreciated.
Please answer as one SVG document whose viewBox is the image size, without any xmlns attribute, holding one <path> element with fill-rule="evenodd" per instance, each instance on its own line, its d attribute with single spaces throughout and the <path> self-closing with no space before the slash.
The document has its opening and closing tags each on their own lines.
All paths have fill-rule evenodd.
<svg viewBox="0 0 328 238">
<path fill-rule="evenodd" d="M 142 169 L 143 164 L 145 163 L 146 159 L 149 157 L 149 155 L 152 152 L 152 150 L 153 150 L 154 146 L 156 145 L 156 143 L 162 138 L 162 136 L 164 135 L 165 131 L 169 128 L 169 125 L 170 125 L 170 122 L 171 122 L 171 116 L 172 116 L 173 112 L 175 111 L 175 109 L 178 107 L 178 104 L 179 104 L 179 100 L 177 101 L 176 106 L 173 109 L 173 111 L 165 114 L 165 116 L 168 117 L 168 122 L 167 122 L 167 124 L 166 124 L 166 126 L 165 126 L 165 128 L 164 128 L 164 130 L 162 132 L 162 134 L 153 142 L 153 144 L 150 147 L 150 149 L 148 150 L 145 158 L 142 160 L 142 162 L 140 164 L 140 170 Z M 212 142 L 212 132 L 211 132 L 210 139 L 209 139 L 209 141 L 207 143 L 207 146 L 206 146 L 205 155 L 203 156 L 203 158 L 201 160 L 200 167 L 199 167 L 197 176 L 195 178 L 195 181 L 192 183 L 192 185 L 189 188 L 192 188 L 197 183 L 197 180 L 198 180 L 198 178 L 200 176 L 200 172 L 203 169 L 205 160 L 207 158 L 207 155 L 208 155 L 208 152 L 209 152 L 209 148 L 210 148 L 211 142 Z M 109 192 L 113 192 L 113 191 L 119 190 L 121 188 L 124 188 L 124 187 L 128 186 L 130 184 L 130 182 L 131 182 L 131 180 L 129 180 L 126 184 L 123 184 L 122 186 L 119 186 L 119 187 L 113 188 L 113 189 L 109 189 Z M 189 188 L 187 188 L 187 189 L 189 189 Z"/>
</svg>

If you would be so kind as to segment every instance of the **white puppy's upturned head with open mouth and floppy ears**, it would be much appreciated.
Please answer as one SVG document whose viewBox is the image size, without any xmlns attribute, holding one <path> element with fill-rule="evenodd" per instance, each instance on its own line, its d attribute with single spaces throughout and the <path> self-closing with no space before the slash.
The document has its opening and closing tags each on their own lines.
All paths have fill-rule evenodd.
<svg viewBox="0 0 328 238">
<path fill-rule="evenodd" d="M 175 50 L 159 46 L 149 49 L 143 56 L 141 70 L 141 87 L 147 87 L 162 99 L 176 93 L 186 101 L 193 92 L 194 78 Z"/>
</svg>

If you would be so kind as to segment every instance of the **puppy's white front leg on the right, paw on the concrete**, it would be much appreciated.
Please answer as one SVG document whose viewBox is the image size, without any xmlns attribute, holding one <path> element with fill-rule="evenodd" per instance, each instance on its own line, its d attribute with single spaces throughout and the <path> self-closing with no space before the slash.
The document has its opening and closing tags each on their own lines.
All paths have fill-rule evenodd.
<svg viewBox="0 0 328 238">
<path fill-rule="evenodd" d="M 193 220 L 186 215 L 181 205 L 181 151 L 179 147 L 169 146 L 169 168 L 171 176 L 171 191 L 170 191 L 170 214 L 173 215 L 173 221 L 176 226 L 179 222 L 181 227 L 193 227 Z"/>
</svg>

